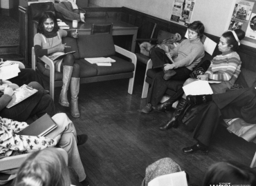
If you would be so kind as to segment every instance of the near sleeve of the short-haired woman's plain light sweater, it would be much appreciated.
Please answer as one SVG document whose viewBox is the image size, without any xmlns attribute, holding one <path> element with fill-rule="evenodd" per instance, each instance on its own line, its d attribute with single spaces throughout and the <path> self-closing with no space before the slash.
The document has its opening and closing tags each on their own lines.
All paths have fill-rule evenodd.
<svg viewBox="0 0 256 186">
<path fill-rule="evenodd" d="M 181 51 L 182 52 L 182 51 Z M 181 59 L 180 61 L 176 61 L 174 63 L 175 68 L 181 68 L 191 65 L 196 59 L 199 58 L 199 56 L 202 56 L 204 53 L 203 45 L 194 45 L 190 53 L 185 56 L 184 59 Z"/>
</svg>

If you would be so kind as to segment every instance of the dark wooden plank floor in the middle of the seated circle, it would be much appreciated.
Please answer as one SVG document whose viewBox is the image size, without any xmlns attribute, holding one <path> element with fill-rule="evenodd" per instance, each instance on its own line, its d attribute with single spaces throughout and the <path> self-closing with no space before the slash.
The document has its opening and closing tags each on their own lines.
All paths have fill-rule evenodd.
<svg viewBox="0 0 256 186">
<path fill-rule="evenodd" d="M 138 65 L 134 94 L 127 93 L 128 80 L 83 84 L 80 87 L 80 118 L 72 118 L 57 103 L 60 87 L 55 88 L 57 112 L 67 112 L 78 134 L 89 140 L 79 147 L 91 186 L 140 185 L 147 165 L 170 157 L 190 174 L 191 185 L 201 185 L 209 165 L 219 161 L 238 161 L 250 165 L 256 145 L 230 134 L 219 125 L 208 155 L 185 155 L 183 147 L 194 145 L 192 133 L 183 126 L 167 132 L 158 130 L 172 113 L 143 114 L 146 100 L 140 99 L 145 68 Z"/>
</svg>

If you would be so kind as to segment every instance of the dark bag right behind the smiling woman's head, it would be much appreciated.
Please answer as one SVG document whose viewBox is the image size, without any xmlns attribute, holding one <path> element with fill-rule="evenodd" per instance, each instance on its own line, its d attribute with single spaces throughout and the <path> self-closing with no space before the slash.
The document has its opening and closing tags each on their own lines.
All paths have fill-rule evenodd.
<svg viewBox="0 0 256 186">
<path fill-rule="evenodd" d="M 38 20 L 42 13 L 46 11 L 51 11 L 55 14 L 53 2 L 31 3 L 28 9 L 33 20 Z"/>
</svg>

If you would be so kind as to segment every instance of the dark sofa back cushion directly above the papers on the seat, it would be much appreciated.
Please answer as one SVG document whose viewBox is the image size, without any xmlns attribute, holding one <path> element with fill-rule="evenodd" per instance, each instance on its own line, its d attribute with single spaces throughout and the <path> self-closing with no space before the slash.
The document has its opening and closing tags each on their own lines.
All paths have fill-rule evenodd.
<svg viewBox="0 0 256 186">
<path fill-rule="evenodd" d="M 81 35 L 77 39 L 81 58 L 106 57 L 116 54 L 111 34 Z"/>
</svg>

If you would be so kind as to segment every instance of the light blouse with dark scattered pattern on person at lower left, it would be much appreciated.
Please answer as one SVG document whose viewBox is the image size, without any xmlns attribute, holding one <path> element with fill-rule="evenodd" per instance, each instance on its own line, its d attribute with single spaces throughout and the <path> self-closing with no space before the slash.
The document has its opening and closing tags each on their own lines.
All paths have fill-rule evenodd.
<svg viewBox="0 0 256 186">
<path fill-rule="evenodd" d="M 44 136 L 24 136 L 16 133 L 28 127 L 25 122 L 0 117 L 0 156 L 10 156 L 13 150 L 28 153 L 53 147 L 56 141 Z"/>
</svg>

